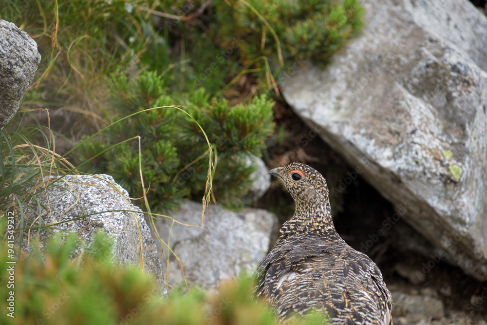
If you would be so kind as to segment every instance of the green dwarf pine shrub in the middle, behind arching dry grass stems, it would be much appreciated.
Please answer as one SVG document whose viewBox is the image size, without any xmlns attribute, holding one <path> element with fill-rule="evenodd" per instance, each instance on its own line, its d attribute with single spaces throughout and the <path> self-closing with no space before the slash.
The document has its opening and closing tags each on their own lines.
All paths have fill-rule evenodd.
<svg viewBox="0 0 487 325">
<path fill-rule="evenodd" d="M 132 198 L 142 197 L 140 158 L 150 206 L 168 210 L 182 198 L 200 200 L 205 192 L 206 134 L 217 157 L 212 182 L 217 201 L 230 208 L 244 206 L 255 169 L 247 157 L 260 156 L 274 130 L 273 100 L 261 95 L 231 106 L 225 99 L 211 98 L 203 88 L 171 96 L 164 80 L 153 72 L 132 80 L 113 77 L 112 98 L 112 126 L 81 144 L 84 171 L 109 173 Z M 174 107 L 144 111 L 172 104 L 184 105 L 192 118 Z M 135 136 L 140 136 L 140 147 Z"/>
</svg>

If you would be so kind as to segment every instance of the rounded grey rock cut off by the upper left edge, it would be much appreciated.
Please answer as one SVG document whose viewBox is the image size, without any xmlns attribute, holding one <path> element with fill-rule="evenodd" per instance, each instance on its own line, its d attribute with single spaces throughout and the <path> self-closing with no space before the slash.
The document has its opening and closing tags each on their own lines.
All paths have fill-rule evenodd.
<svg viewBox="0 0 487 325">
<path fill-rule="evenodd" d="M 0 19 L 0 127 L 19 110 L 39 62 L 34 39 L 15 24 Z"/>
</svg>

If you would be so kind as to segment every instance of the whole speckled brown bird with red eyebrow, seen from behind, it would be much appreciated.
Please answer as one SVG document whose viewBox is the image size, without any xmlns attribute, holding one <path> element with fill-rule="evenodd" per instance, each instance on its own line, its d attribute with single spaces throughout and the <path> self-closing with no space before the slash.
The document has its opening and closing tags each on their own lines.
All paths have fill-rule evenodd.
<svg viewBox="0 0 487 325">
<path fill-rule="evenodd" d="M 392 325 L 391 293 L 375 263 L 335 230 L 323 176 L 300 163 L 269 173 L 291 193 L 296 212 L 259 265 L 257 295 L 282 320 L 315 309 L 330 324 Z"/>
</svg>

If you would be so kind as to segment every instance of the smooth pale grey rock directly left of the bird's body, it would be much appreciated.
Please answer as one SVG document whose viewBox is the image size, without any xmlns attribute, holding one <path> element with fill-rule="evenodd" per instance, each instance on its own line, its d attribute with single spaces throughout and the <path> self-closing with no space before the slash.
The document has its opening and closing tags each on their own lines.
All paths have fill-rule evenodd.
<svg viewBox="0 0 487 325">
<path fill-rule="evenodd" d="M 212 205 L 205 211 L 201 227 L 201 210 L 201 203 L 186 201 L 173 214 L 177 222 L 166 218 L 155 223 L 161 238 L 180 259 L 187 284 L 215 288 L 241 271 L 255 271 L 269 250 L 276 216 L 261 209 L 232 212 Z M 174 255 L 164 251 L 169 254 L 168 284 L 184 284 Z"/>
</svg>

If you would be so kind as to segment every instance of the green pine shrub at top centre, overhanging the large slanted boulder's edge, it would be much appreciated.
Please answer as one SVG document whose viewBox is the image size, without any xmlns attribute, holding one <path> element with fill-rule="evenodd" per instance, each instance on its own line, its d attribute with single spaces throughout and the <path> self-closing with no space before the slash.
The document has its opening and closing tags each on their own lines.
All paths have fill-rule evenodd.
<svg viewBox="0 0 487 325">
<path fill-rule="evenodd" d="M 358 0 L 214 2 L 220 44 L 225 48 L 237 38 L 244 65 L 268 57 L 291 65 L 310 59 L 325 67 L 362 27 Z"/>
</svg>

